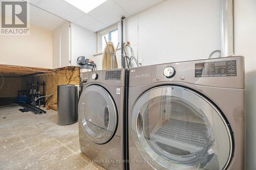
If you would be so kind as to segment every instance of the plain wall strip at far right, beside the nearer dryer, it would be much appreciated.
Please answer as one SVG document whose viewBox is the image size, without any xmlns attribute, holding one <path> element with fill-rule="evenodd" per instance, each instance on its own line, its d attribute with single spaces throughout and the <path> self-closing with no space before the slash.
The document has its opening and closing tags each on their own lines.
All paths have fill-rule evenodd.
<svg viewBox="0 0 256 170">
<path fill-rule="evenodd" d="M 256 1 L 234 1 L 234 49 L 245 57 L 246 169 L 256 169 Z"/>
</svg>

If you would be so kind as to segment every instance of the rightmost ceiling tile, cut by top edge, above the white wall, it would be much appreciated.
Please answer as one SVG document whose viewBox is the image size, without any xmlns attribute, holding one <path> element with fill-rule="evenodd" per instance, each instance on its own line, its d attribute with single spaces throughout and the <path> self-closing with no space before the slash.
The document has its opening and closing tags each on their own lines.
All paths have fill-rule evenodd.
<svg viewBox="0 0 256 170">
<path fill-rule="evenodd" d="M 130 15 L 137 14 L 166 0 L 115 0 Z"/>
</svg>

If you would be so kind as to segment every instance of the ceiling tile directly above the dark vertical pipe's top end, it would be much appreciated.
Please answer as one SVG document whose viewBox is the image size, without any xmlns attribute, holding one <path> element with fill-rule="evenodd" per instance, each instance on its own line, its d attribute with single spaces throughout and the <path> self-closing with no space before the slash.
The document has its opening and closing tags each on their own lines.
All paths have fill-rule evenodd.
<svg viewBox="0 0 256 170">
<path fill-rule="evenodd" d="M 110 26 L 118 22 L 122 16 L 128 16 L 129 14 L 120 8 L 114 0 L 108 0 L 90 11 L 88 15 Z"/>
</svg>

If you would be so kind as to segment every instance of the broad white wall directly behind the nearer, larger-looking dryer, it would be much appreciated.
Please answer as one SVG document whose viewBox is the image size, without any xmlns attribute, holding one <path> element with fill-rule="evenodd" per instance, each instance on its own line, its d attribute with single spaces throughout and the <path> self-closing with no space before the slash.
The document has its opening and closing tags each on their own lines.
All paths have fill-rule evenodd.
<svg viewBox="0 0 256 170">
<path fill-rule="evenodd" d="M 221 48 L 220 17 L 221 0 L 169 0 L 126 18 L 124 41 L 143 65 L 207 58 Z M 94 58 L 98 69 L 101 57 Z"/>
</svg>

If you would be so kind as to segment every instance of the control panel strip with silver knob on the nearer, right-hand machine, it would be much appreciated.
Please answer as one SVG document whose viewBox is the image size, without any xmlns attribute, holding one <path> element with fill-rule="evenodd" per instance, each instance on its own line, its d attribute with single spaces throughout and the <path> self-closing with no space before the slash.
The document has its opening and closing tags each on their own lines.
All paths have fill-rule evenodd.
<svg viewBox="0 0 256 170">
<path fill-rule="evenodd" d="M 130 69 L 130 87 L 161 82 L 244 88 L 244 57 L 202 59 Z"/>
</svg>

